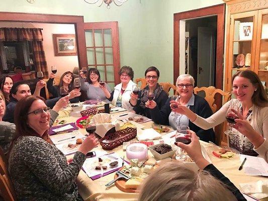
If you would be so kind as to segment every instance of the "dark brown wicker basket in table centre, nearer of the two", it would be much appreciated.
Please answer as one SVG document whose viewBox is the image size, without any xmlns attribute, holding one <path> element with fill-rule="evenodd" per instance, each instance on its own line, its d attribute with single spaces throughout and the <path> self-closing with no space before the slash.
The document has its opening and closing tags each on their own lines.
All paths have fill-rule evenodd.
<svg viewBox="0 0 268 201">
<path fill-rule="evenodd" d="M 115 130 L 109 130 L 106 135 L 100 140 L 100 144 L 105 150 L 112 150 L 123 144 L 123 142 L 127 142 L 135 138 L 137 135 L 137 129 L 130 127 L 116 132 L 113 131 Z M 110 142 L 104 142 L 104 140 Z"/>
</svg>

